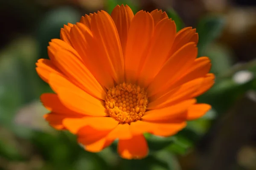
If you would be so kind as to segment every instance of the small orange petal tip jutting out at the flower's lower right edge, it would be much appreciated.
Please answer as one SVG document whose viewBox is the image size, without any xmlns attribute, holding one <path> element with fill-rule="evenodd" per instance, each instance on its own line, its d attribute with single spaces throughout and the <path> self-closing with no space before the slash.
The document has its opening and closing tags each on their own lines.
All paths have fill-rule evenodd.
<svg viewBox="0 0 256 170">
<path fill-rule="evenodd" d="M 204 116 L 204 114 L 207 113 L 207 111 L 209 111 L 211 108 L 211 105 L 207 105 L 204 103 L 191 105 L 187 112 L 187 120 L 198 119 Z"/>
</svg>

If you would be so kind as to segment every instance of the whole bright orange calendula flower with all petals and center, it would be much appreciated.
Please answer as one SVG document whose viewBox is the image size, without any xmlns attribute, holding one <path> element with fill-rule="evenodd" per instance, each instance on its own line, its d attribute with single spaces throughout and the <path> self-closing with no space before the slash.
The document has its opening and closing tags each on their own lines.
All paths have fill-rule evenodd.
<svg viewBox="0 0 256 170">
<path fill-rule="evenodd" d="M 45 115 L 90 152 L 118 139 L 125 159 L 148 154 L 143 133 L 172 136 L 210 108 L 196 103 L 214 83 L 208 57 L 198 57 L 198 34 L 176 33 L 165 12 L 116 6 L 85 15 L 49 42 L 49 59 L 36 63 L 55 94 L 42 94 Z"/>
</svg>

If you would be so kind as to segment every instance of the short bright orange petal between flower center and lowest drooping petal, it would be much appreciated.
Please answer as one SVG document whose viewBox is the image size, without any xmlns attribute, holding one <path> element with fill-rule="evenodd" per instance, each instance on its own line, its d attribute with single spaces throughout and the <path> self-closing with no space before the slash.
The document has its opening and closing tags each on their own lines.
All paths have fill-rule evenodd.
<svg viewBox="0 0 256 170">
<path fill-rule="evenodd" d="M 107 139 L 131 139 L 132 134 L 129 124 L 119 124 L 107 136 Z"/>
</svg>

